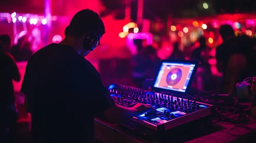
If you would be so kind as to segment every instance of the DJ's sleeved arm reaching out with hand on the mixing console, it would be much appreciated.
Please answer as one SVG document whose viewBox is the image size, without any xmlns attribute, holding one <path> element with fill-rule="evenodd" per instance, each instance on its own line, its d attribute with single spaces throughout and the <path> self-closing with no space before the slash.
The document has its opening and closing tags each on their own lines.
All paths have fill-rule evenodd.
<svg viewBox="0 0 256 143">
<path fill-rule="evenodd" d="M 92 95 L 90 96 L 89 106 L 92 107 L 92 113 L 94 116 L 97 116 L 110 124 L 118 124 L 128 120 L 136 114 L 144 113 L 148 110 L 154 110 L 154 108 L 148 104 L 136 104 L 131 108 L 115 104 L 103 85 L 100 74 L 90 63 L 86 64 L 87 65 L 83 67 L 89 68 L 85 70 L 78 70 L 81 73 L 77 75 L 83 75 L 82 77 L 84 79 L 82 78 L 82 81 L 84 84 L 80 84 L 81 88 L 84 89 L 83 92 Z M 87 73 L 89 76 L 85 76 L 84 73 Z M 78 78 L 81 80 L 80 76 L 78 76 Z M 84 96 L 83 100 L 88 104 L 88 97 Z"/>
</svg>

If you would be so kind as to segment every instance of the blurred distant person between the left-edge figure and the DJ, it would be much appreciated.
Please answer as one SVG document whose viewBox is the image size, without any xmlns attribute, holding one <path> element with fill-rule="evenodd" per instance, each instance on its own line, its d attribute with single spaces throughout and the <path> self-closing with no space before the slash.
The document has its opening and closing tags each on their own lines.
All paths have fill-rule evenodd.
<svg viewBox="0 0 256 143">
<path fill-rule="evenodd" d="M 11 54 L 16 61 L 28 61 L 33 52 L 31 51 L 31 43 L 28 41 L 27 35 L 18 39 L 18 43 L 11 48 Z"/>
</svg>

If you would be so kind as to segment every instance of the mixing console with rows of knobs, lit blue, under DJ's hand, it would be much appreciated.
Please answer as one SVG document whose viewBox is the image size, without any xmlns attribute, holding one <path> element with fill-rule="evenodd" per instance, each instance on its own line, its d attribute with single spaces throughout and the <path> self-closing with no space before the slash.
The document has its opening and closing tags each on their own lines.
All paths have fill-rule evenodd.
<svg viewBox="0 0 256 143">
<path fill-rule="evenodd" d="M 214 114 L 214 106 L 179 97 L 178 94 L 150 92 L 140 88 L 114 85 L 109 93 L 116 104 L 132 107 L 136 103 L 150 104 L 156 110 L 150 110 L 133 116 L 122 126 L 143 135 L 165 132 L 186 123 Z"/>
</svg>

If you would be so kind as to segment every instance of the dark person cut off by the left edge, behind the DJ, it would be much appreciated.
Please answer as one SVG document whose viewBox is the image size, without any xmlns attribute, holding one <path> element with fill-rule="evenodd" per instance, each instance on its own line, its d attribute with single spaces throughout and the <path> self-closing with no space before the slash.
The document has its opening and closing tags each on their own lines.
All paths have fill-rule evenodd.
<svg viewBox="0 0 256 143">
<path fill-rule="evenodd" d="M 21 76 L 10 51 L 11 40 L 8 35 L 0 36 L 0 134 L 5 136 L 3 142 L 14 142 L 16 138 L 16 121 L 18 118 L 12 80 L 19 81 Z"/>
</svg>

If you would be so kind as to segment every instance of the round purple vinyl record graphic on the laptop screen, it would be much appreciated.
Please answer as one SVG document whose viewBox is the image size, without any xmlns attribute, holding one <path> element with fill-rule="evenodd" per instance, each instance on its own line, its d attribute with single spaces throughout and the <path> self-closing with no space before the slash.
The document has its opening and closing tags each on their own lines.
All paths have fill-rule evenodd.
<svg viewBox="0 0 256 143">
<path fill-rule="evenodd" d="M 173 68 L 166 77 L 168 85 L 173 86 L 180 82 L 182 77 L 182 70 L 180 68 Z"/>
</svg>

